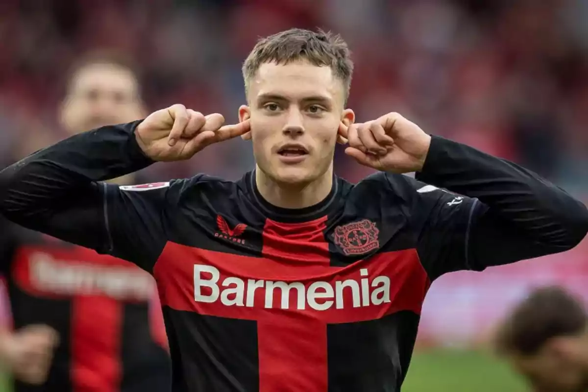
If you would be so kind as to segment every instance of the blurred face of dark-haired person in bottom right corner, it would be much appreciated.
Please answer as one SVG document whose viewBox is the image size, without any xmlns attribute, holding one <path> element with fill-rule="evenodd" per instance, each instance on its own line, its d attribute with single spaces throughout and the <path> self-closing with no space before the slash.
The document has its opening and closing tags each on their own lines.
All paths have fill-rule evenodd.
<svg viewBox="0 0 588 392">
<path fill-rule="evenodd" d="M 513 355 L 510 362 L 536 392 L 588 391 L 588 371 L 582 361 L 549 347 L 533 356 Z"/>
</svg>

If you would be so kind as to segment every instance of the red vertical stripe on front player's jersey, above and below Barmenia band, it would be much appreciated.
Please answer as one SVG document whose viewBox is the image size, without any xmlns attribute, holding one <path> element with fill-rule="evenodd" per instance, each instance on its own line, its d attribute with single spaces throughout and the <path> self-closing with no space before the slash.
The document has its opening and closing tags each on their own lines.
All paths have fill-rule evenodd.
<svg viewBox="0 0 588 392">
<path fill-rule="evenodd" d="M 327 217 L 304 223 L 266 220 L 263 256 L 292 267 L 328 267 Z M 286 269 L 287 270 L 287 269 Z M 258 320 L 259 391 L 326 391 L 326 323 L 305 313 Z M 300 361 L 304 358 L 305 361 Z"/>
</svg>

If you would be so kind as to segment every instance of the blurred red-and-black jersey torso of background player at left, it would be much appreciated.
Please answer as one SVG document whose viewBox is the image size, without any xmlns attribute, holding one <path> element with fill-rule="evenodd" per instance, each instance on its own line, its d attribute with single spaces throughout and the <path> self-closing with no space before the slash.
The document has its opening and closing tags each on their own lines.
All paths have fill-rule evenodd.
<svg viewBox="0 0 588 392">
<path fill-rule="evenodd" d="M 15 237 L 7 279 L 14 327 L 48 324 L 60 336 L 45 386 L 17 383 L 16 391 L 162 390 L 169 363 L 161 319 L 149 306 L 152 277 L 29 230 L 15 228 Z"/>
</svg>

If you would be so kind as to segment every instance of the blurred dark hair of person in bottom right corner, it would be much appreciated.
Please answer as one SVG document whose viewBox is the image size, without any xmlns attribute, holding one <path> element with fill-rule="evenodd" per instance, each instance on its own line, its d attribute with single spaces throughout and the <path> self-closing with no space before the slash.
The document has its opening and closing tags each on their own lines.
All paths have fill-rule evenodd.
<svg viewBox="0 0 588 392">
<path fill-rule="evenodd" d="M 588 316 L 582 303 L 561 287 L 533 290 L 506 317 L 496 336 L 500 355 L 533 355 L 547 340 L 586 331 Z"/>
</svg>

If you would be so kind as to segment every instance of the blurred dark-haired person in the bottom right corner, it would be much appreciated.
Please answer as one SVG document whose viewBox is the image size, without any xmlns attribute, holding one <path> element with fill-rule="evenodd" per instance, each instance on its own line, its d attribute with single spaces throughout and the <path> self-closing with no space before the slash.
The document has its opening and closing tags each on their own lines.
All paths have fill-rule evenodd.
<svg viewBox="0 0 588 392">
<path fill-rule="evenodd" d="M 588 314 L 561 287 L 533 290 L 503 321 L 496 343 L 534 390 L 588 391 Z"/>
</svg>

